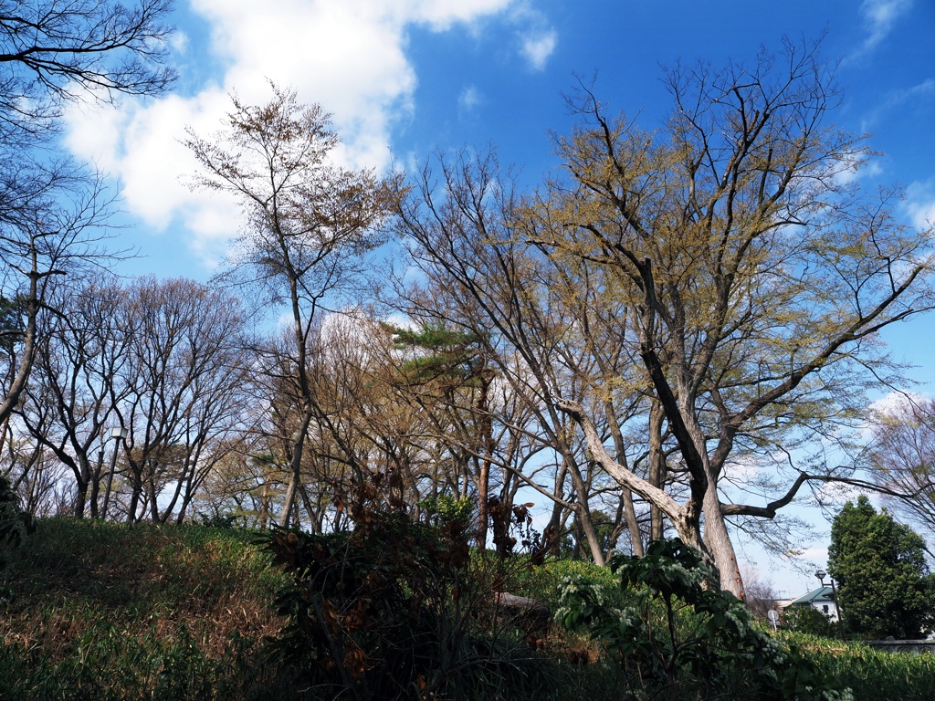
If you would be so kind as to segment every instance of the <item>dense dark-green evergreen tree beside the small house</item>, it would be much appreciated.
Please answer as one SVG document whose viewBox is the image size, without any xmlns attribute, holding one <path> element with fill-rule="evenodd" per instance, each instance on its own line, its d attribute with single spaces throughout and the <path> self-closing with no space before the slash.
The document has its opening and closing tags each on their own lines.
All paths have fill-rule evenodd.
<svg viewBox="0 0 935 701">
<path fill-rule="evenodd" d="M 843 620 L 870 638 L 917 638 L 933 622 L 935 579 L 925 542 L 877 513 L 866 496 L 848 502 L 831 525 L 828 572 L 839 582 Z"/>
</svg>

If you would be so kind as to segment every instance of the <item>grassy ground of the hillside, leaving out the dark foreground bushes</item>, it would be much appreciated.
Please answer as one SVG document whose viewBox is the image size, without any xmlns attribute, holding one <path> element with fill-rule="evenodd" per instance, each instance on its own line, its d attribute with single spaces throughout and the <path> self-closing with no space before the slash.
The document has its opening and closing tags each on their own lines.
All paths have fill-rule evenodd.
<svg viewBox="0 0 935 701">
<path fill-rule="evenodd" d="M 286 621 L 275 614 L 272 602 L 287 575 L 269 566 L 270 555 L 252 544 L 255 536 L 250 532 L 68 519 L 37 525 L 36 534 L 21 547 L 0 552 L 7 558 L 6 568 L 0 570 L 0 701 L 330 701 L 335 696 L 333 686 L 297 683 L 301 665 L 267 661 L 272 649 L 267 637 L 288 641 L 288 633 L 284 638 L 280 634 L 292 630 L 294 639 L 305 640 L 305 645 L 314 642 L 314 630 L 295 638 L 301 625 L 283 627 Z M 415 552 L 411 547 L 382 551 L 401 564 L 409 563 Z M 375 558 L 349 559 L 346 565 L 369 572 L 379 559 Z M 522 560 L 517 565 L 511 574 L 512 591 L 544 601 L 553 611 L 561 582 L 569 577 L 592 582 L 607 594 L 616 592 L 614 599 L 629 596 L 617 589 L 619 579 L 608 569 L 594 565 L 552 561 L 534 568 L 522 565 Z M 371 574 L 367 580 L 372 579 Z M 409 577 L 401 580 L 417 585 Z M 451 594 L 444 606 L 463 608 L 468 593 Z M 333 601 L 338 603 L 337 598 Z M 358 608 L 364 611 L 358 602 L 342 621 L 363 640 L 363 629 L 352 631 L 348 623 Z M 600 701 L 626 695 L 621 661 L 608 653 L 599 635 L 571 635 L 553 624 L 543 640 L 536 640 L 538 651 L 532 651 L 522 635 L 504 627 L 501 618 L 489 618 L 485 610 L 477 605 L 462 611 L 460 620 L 474 632 L 458 637 L 449 631 L 445 639 L 460 641 L 449 652 L 475 665 L 471 679 L 495 691 L 474 694 L 465 689 L 459 698 L 531 697 L 503 690 L 533 687 L 539 689 L 533 695 L 543 701 Z M 369 611 L 373 618 L 375 609 Z M 400 608 L 394 611 L 404 614 Z M 505 646 L 513 637 L 516 644 Z M 850 686 L 857 701 L 931 697 L 931 655 L 909 657 L 795 634 L 780 639 L 804 650 L 831 679 Z M 309 665 L 310 648 L 300 648 Z M 319 662 L 310 664 L 328 664 L 327 655 L 315 660 Z M 419 689 L 400 689 L 400 694 L 425 696 Z M 658 697 L 678 698 L 665 693 Z"/>
</svg>

